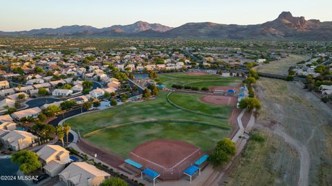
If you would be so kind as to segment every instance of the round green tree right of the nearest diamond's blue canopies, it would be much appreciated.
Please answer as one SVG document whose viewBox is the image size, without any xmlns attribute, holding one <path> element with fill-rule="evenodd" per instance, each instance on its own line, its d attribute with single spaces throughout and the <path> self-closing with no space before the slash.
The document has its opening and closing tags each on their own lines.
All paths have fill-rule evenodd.
<svg viewBox="0 0 332 186">
<path fill-rule="evenodd" d="M 210 162 L 213 166 L 218 167 L 229 162 L 237 152 L 237 146 L 230 138 L 224 138 L 216 144 L 210 156 Z"/>
</svg>

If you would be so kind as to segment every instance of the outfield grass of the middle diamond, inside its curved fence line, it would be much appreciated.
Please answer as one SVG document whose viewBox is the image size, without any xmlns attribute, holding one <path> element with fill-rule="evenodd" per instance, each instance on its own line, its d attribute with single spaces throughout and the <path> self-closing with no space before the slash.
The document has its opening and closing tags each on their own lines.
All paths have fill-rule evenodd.
<svg viewBox="0 0 332 186">
<path fill-rule="evenodd" d="M 230 115 L 232 106 L 216 106 L 201 102 L 199 98 L 203 96 L 204 95 L 202 94 L 174 92 L 169 95 L 169 100 L 178 106 L 182 106 L 183 108 L 192 111 L 201 111 L 202 113 L 223 117 L 228 117 Z"/>
</svg>

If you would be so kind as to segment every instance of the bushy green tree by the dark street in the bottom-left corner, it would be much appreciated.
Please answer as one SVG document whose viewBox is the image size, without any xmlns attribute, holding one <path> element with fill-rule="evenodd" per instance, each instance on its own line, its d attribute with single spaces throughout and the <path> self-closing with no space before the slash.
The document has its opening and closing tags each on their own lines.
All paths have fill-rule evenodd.
<svg viewBox="0 0 332 186">
<path fill-rule="evenodd" d="M 34 151 L 23 150 L 12 154 L 12 162 L 21 164 L 19 169 L 23 171 L 24 174 L 29 174 L 36 171 L 42 164 L 38 160 L 38 156 Z"/>
</svg>

